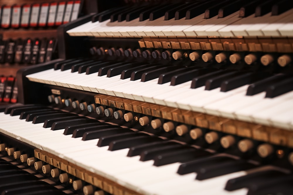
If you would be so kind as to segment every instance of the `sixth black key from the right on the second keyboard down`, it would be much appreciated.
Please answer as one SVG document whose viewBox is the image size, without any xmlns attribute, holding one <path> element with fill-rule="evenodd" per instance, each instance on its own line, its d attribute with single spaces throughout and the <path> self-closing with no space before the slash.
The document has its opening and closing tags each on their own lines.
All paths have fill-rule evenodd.
<svg viewBox="0 0 293 195">
<path fill-rule="evenodd" d="M 185 73 L 180 73 L 178 75 L 174 75 L 171 78 L 170 85 L 175 86 L 175 85 L 190 81 L 199 75 L 204 75 L 204 74 L 207 74 L 207 73 L 209 73 L 211 71 L 215 71 L 215 70 L 217 70 L 217 69 L 215 69 L 215 68 L 199 68 L 199 69 L 190 70 Z"/>
</svg>

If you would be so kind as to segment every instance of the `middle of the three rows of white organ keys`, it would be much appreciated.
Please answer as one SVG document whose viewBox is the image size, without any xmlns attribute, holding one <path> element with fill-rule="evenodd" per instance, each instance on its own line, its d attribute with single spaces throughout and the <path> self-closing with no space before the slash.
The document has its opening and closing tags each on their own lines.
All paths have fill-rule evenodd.
<svg viewBox="0 0 293 195">
<path fill-rule="evenodd" d="M 293 129 L 290 117 L 286 117 L 286 122 L 282 124 L 281 122 L 277 122 L 280 121 L 280 117 L 279 115 L 273 115 L 274 112 L 268 113 L 270 115 L 269 117 L 262 114 L 263 109 L 270 108 L 274 105 L 277 106 L 279 103 L 282 103 L 283 96 L 286 97 L 289 94 L 289 97 L 291 97 L 290 94 L 292 92 L 270 99 L 265 98 L 265 92 L 253 96 L 246 96 L 248 85 L 228 92 L 220 92 L 219 87 L 207 91 L 205 90 L 205 86 L 191 89 L 191 81 L 171 86 L 170 82 L 157 84 L 158 79 L 140 82 L 140 80 L 121 80 L 120 75 L 108 78 L 106 75 L 98 77 L 96 74 L 77 74 L 71 73 L 70 70 L 55 71 L 52 69 L 29 75 L 28 78 L 32 81 L 50 83 L 73 89 Z M 46 79 L 50 80 L 48 81 Z M 286 100 L 290 101 L 289 99 Z M 276 103 L 273 104 L 274 102 Z M 292 105 L 292 103 L 288 103 Z M 262 107 L 257 109 L 260 105 Z M 286 107 L 284 110 L 280 109 L 280 114 L 287 112 Z M 274 119 L 274 117 L 277 118 Z"/>
</svg>

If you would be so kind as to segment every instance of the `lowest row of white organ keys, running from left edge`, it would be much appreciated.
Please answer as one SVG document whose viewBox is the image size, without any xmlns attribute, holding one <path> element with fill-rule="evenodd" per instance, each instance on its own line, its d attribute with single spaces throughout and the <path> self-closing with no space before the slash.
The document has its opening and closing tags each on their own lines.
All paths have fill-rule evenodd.
<svg viewBox="0 0 293 195">
<path fill-rule="evenodd" d="M 2 133 L 18 137 L 28 144 L 34 144 L 33 146 L 142 194 L 196 193 L 203 195 L 217 192 L 221 195 L 245 195 L 247 193 L 247 189 L 231 192 L 224 190 L 227 180 L 246 175 L 248 173 L 246 171 L 199 181 L 195 180 L 195 173 L 176 174 L 180 163 L 155 167 L 152 166 L 153 161 L 139 161 L 139 156 L 126 157 L 128 149 L 107 151 L 108 146 L 96 146 L 98 139 L 81 141 L 78 138 L 71 138 L 70 135 L 63 135 L 64 130 L 51 131 L 50 128 L 42 128 L 43 123 L 32 124 L 19 120 L 18 116 L 11 117 L 4 115 L 4 113 L 0 113 L 0 115 Z M 18 128 L 20 125 L 23 127 Z M 271 168 L 262 167 L 257 170 L 262 169 Z"/>
</svg>

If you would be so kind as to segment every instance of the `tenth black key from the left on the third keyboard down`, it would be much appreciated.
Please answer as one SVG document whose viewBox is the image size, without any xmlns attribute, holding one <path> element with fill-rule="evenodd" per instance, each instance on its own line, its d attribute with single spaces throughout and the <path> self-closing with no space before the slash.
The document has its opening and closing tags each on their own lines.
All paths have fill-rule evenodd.
<svg viewBox="0 0 293 195">
<path fill-rule="evenodd" d="M 82 136 L 81 140 L 86 141 L 91 139 L 98 139 L 100 137 L 104 137 L 108 135 L 113 135 L 117 133 L 127 133 L 127 132 L 134 132 L 134 131 L 127 128 L 122 128 L 122 127 L 111 127 L 108 129 L 86 132 Z"/>
</svg>

